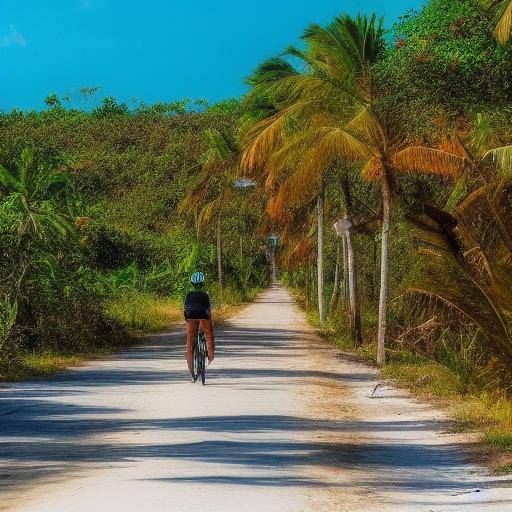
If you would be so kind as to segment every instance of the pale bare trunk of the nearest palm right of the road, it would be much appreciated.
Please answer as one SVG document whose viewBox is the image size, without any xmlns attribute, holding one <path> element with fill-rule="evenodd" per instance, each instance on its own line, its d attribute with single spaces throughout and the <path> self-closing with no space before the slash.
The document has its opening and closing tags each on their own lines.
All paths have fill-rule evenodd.
<svg viewBox="0 0 512 512">
<path fill-rule="evenodd" d="M 389 228 L 391 222 L 391 186 L 387 169 L 382 173 L 382 241 L 380 257 L 380 298 L 379 298 L 379 330 L 377 335 L 377 364 L 386 362 L 386 327 L 389 300 Z"/>
</svg>

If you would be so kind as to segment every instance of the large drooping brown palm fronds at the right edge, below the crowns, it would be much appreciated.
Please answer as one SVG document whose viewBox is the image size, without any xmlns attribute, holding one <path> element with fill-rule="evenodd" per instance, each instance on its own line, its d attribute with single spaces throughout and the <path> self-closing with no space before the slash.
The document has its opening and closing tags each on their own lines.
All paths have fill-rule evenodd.
<svg viewBox="0 0 512 512">
<path fill-rule="evenodd" d="M 425 244 L 423 278 L 411 287 L 474 324 L 502 368 L 512 365 L 511 194 L 502 178 L 458 205 L 450 231 L 425 220 L 417 231 Z"/>
</svg>

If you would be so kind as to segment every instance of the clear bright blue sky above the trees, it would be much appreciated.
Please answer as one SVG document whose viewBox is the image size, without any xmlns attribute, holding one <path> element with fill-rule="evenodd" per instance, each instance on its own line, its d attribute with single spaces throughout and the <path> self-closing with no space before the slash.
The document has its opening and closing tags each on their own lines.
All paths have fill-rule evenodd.
<svg viewBox="0 0 512 512">
<path fill-rule="evenodd" d="M 244 91 L 263 59 L 310 23 L 377 11 L 388 24 L 419 0 L 0 0 L 0 109 L 101 86 L 128 103 L 217 101 Z"/>
</svg>

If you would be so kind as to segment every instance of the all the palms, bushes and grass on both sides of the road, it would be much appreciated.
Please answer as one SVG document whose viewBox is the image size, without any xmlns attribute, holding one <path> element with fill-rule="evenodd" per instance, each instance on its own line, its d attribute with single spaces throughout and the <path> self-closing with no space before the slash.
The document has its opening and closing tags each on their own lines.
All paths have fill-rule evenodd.
<svg viewBox="0 0 512 512">
<path fill-rule="evenodd" d="M 196 268 L 228 314 L 277 235 L 330 338 L 510 452 L 511 27 L 509 1 L 341 14 L 240 100 L 2 114 L 4 376 L 165 328 Z"/>
</svg>

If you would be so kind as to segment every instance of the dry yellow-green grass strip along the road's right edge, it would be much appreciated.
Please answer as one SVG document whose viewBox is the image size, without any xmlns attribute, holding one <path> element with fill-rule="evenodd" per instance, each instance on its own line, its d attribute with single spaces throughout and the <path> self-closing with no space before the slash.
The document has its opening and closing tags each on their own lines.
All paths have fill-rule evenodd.
<svg viewBox="0 0 512 512">
<path fill-rule="evenodd" d="M 300 295 L 297 299 L 323 338 L 361 362 L 375 365 L 375 344 L 354 349 L 346 325 L 327 323 L 321 328 L 316 312 L 304 308 Z M 458 370 L 457 366 L 443 366 L 406 350 L 388 349 L 381 376 L 448 410 L 457 431 L 479 434 L 484 463 L 496 474 L 512 474 L 512 397 L 500 389 L 489 390 L 474 383 L 468 388 L 467 376 Z"/>
</svg>

